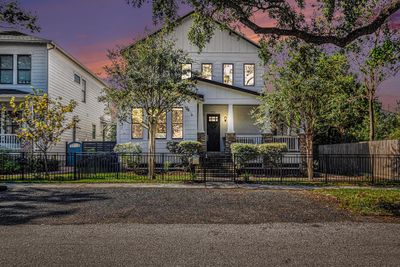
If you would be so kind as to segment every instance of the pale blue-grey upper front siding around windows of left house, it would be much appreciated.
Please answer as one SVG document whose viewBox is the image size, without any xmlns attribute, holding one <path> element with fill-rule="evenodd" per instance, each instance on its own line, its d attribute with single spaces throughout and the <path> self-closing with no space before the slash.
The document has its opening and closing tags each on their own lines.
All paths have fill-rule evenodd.
<svg viewBox="0 0 400 267">
<path fill-rule="evenodd" d="M 1 89 L 17 89 L 25 92 L 32 92 L 35 89 L 47 90 L 47 46 L 45 44 L 18 44 L 0 43 L 1 55 L 14 55 L 14 84 L 0 84 Z M 30 85 L 17 84 L 17 55 L 31 55 L 32 76 Z"/>
</svg>

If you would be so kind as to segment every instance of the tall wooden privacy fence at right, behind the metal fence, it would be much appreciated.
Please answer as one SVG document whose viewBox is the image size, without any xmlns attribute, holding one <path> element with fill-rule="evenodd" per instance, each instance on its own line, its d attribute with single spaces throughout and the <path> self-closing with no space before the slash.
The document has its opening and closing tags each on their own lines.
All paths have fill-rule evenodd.
<svg viewBox="0 0 400 267">
<path fill-rule="evenodd" d="M 371 178 L 399 177 L 400 140 L 322 145 L 320 168 L 328 173 L 358 173 Z"/>
</svg>

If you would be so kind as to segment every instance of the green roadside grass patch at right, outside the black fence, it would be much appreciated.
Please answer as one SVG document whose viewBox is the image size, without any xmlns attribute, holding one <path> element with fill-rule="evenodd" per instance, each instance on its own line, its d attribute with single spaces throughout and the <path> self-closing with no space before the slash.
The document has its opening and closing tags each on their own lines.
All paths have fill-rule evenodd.
<svg viewBox="0 0 400 267">
<path fill-rule="evenodd" d="M 314 193 L 338 201 L 341 208 L 366 216 L 400 217 L 400 189 L 318 189 Z"/>
</svg>

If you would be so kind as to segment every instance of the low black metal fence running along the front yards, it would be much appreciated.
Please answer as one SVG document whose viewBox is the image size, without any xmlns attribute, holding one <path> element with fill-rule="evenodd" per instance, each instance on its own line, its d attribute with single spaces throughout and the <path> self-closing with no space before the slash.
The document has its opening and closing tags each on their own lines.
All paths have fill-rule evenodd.
<svg viewBox="0 0 400 267">
<path fill-rule="evenodd" d="M 400 156 L 319 155 L 313 159 L 314 178 L 307 177 L 306 155 L 285 154 L 250 161 L 230 154 L 77 153 L 0 154 L 0 181 L 16 180 L 136 180 L 149 181 L 155 162 L 159 181 L 400 183 Z M 47 159 L 47 160 L 46 160 Z"/>
</svg>

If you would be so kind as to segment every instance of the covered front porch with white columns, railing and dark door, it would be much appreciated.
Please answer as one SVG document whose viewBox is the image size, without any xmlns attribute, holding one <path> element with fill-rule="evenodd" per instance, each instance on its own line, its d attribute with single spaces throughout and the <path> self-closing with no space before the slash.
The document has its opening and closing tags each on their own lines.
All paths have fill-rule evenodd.
<svg viewBox="0 0 400 267">
<path fill-rule="evenodd" d="M 198 141 L 207 152 L 229 152 L 232 143 L 286 143 L 289 152 L 299 152 L 299 137 L 289 129 L 260 129 L 252 118 L 255 104 L 198 103 Z"/>
</svg>

